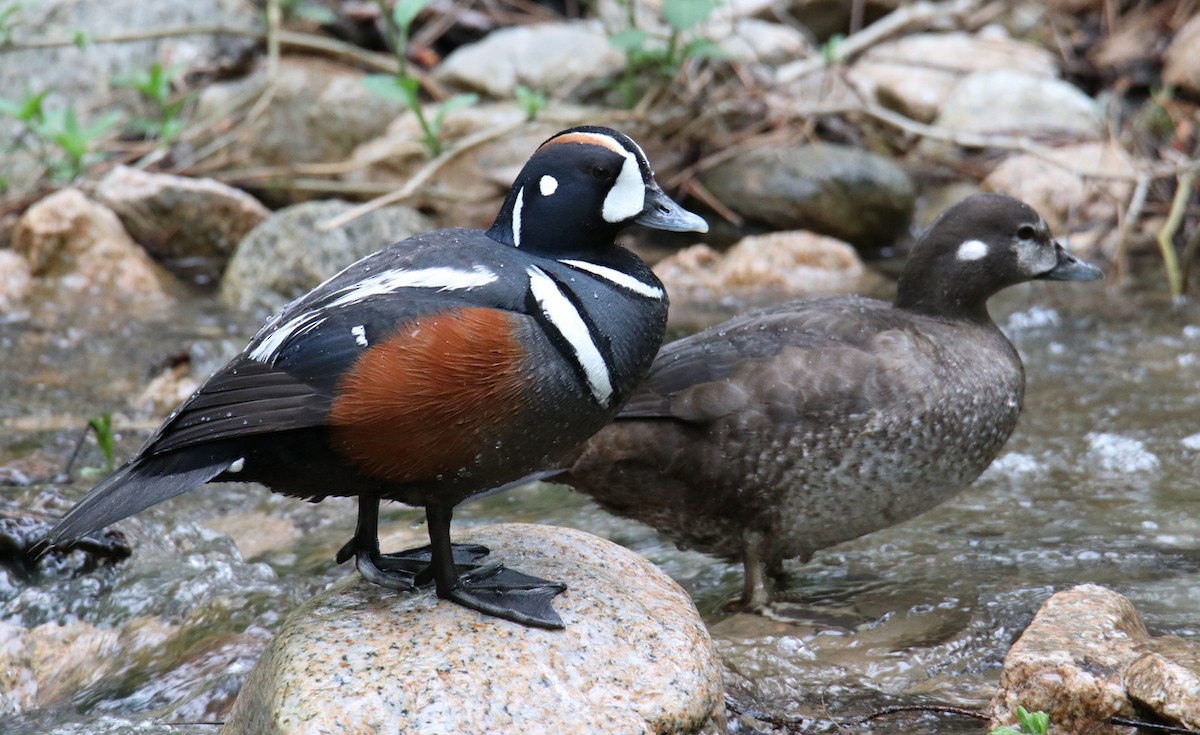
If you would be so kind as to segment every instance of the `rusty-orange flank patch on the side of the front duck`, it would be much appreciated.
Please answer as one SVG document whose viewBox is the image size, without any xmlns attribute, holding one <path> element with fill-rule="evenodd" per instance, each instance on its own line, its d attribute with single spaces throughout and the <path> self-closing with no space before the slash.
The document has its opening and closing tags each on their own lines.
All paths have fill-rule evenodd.
<svg viewBox="0 0 1200 735">
<path fill-rule="evenodd" d="M 526 406 L 514 318 L 458 309 L 414 319 L 367 349 L 337 384 L 328 419 L 336 449 L 391 482 L 469 465 Z"/>
</svg>

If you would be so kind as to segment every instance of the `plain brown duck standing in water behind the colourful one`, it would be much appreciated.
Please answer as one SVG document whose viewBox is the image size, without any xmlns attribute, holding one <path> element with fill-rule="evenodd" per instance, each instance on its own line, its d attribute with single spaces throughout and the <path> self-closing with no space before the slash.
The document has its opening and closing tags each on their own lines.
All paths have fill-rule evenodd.
<svg viewBox="0 0 1200 735">
<path fill-rule="evenodd" d="M 740 558 L 742 605 L 760 609 L 784 560 L 924 513 L 1000 453 L 1025 371 L 989 297 L 1100 276 L 1028 205 L 972 196 L 913 247 L 894 304 L 794 301 L 665 346 L 554 479 L 683 546 Z"/>
</svg>

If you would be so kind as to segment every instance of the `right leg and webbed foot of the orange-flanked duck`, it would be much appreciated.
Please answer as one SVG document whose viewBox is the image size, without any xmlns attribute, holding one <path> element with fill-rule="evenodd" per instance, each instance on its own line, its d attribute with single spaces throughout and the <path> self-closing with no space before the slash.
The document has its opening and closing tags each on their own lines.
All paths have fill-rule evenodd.
<svg viewBox="0 0 1200 735">
<path fill-rule="evenodd" d="M 454 545 L 450 543 L 451 515 L 452 509 L 445 506 L 425 509 L 432 551 L 430 567 L 438 597 L 523 626 L 564 627 L 563 619 L 550 603 L 566 591 L 566 585 L 514 572 L 500 563 L 461 573 L 455 566 Z"/>
</svg>

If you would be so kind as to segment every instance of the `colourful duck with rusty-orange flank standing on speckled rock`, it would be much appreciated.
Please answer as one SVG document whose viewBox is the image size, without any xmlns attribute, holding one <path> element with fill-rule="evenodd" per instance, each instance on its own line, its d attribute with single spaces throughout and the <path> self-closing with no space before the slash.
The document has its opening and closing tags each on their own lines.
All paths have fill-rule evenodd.
<svg viewBox="0 0 1200 735">
<path fill-rule="evenodd" d="M 209 480 L 322 500 L 358 496 L 352 556 L 366 579 L 428 582 L 481 612 L 562 627 L 565 590 L 450 543 L 464 498 L 552 465 L 604 426 L 646 375 L 667 298 L 614 244 L 638 223 L 706 232 L 628 136 L 546 141 L 496 223 L 376 252 L 272 317 L 116 473 L 50 531 L 65 544 Z M 379 502 L 424 506 L 431 545 L 380 554 Z"/>
</svg>

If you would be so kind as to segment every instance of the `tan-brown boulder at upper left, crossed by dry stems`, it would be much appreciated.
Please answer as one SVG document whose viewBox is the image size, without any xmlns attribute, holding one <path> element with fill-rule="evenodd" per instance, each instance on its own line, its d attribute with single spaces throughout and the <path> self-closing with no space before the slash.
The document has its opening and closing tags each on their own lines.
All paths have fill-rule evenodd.
<svg viewBox="0 0 1200 735">
<path fill-rule="evenodd" d="M 292 166 L 341 161 L 380 135 L 404 107 L 362 86 L 365 72 L 316 58 L 283 56 L 271 103 L 253 121 L 239 125 L 226 150 L 238 166 Z M 264 68 L 233 82 L 206 86 L 196 118 L 223 119 L 239 102 L 268 91 Z"/>
</svg>

